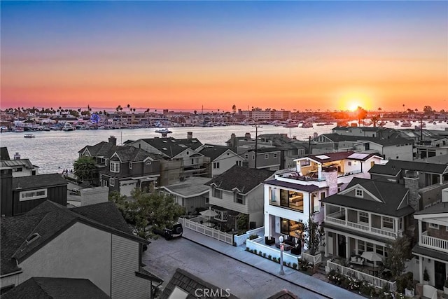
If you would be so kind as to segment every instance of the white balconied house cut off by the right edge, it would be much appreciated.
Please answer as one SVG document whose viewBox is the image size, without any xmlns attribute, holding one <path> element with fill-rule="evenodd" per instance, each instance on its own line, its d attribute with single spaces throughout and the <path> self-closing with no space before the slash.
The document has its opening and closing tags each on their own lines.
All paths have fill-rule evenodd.
<svg viewBox="0 0 448 299">
<path fill-rule="evenodd" d="M 442 190 L 442 202 L 414 214 L 418 221 L 418 243 L 412 249 L 417 257 L 414 279 L 423 283 L 423 272 L 429 274 L 429 284 L 440 290 L 448 277 L 448 188 Z"/>
</svg>

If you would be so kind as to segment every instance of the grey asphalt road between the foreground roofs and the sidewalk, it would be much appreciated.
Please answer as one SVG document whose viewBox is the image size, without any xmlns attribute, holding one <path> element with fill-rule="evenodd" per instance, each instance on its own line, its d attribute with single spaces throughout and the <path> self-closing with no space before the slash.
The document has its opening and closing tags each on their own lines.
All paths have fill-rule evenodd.
<svg viewBox="0 0 448 299">
<path fill-rule="evenodd" d="M 164 288 L 179 267 L 215 286 L 229 288 L 241 299 L 268 298 L 283 289 L 300 298 L 325 298 L 188 239 L 159 238 L 151 242 L 143 262 L 148 271 L 164 279 Z"/>
</svg>

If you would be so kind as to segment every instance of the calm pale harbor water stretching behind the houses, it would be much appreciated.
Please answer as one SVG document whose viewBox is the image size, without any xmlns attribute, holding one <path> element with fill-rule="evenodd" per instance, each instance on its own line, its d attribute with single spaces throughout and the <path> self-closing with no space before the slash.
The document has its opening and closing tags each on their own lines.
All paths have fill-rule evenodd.
<svg viewBox="0 0 448 299">
<path fill-rule="evenodd" d="M 393 125 L 393 124 L 392 124 Z M 335 125 L 316 126 L 303 129 L 301 127 L 274 127 L 273 125 L 262 125 L 258 128 L 258 134 L 283 133 L 288 136 L 296 136 L 299 140 L 308 139 L 317 134 L 330 133 Z M 444 130 L 447 124 L 428 125 L 427 129 Z M 221 144 L 230 139 L 230 134 L 235 133 L 237 137 L 244 136 L 250 132 L 255 136 L 255 127 L 251 126 L 227 126 L 227 127 L 173 127 L 169 137 L 183 139 L 187 132 L 193 132 L 193 137 L 199 139 L 203 144 Z M 124 129 L 124 130 L 76 130 L 72 132 L 42 131 L 33 132 L 36 138 L 24 138 L 25 133 L 6 132 L 0 134 L 1 146 L 8 147 L 9 154 L 13 158 L 18 152 L 21 158 L 29 158 L 31 162 L 39 167 L 39 173 L 62 172 L 64 168 L 73 168 L 73 161 L 78 158 L 78 151 L 87 145 L 94 145 L 101 141 L 107 141 L 109 136 L 117 138 L 117 143 L 122 144 L 127 140 L 141 138 L 160 137 L 149 129 Z"/>
</svg>

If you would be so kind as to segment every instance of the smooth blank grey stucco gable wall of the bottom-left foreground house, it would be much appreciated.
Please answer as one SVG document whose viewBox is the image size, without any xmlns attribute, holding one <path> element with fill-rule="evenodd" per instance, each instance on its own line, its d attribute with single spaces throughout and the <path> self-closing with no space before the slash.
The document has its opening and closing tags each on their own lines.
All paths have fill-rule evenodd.
<svg viewBox="0 0 448 299">
<path fill-rule="evenodd" d="M 85 278 L 111 295 L 111 234 L 75 223 L 19 267 L 20 283 L 30 277 Z"/>
</svg>

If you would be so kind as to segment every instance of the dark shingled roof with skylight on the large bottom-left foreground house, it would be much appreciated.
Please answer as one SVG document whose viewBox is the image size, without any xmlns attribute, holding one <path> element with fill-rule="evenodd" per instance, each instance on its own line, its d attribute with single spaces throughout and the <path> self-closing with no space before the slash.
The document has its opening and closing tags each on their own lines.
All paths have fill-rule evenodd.
<svg viewBox="0 0 448 299">
<path fill-rule="evenodd" d="M 1 219 L 1 274 L 18 270 L 17 266 L 13 267 L 15 260 L 25 260 L 76 222 L 86 223 L 135 242 L 148 243 L 145 239 L 132 235 L 120 211 L 112 202 L 67 209 L 46 200 L 24 215 Z M 25 239 L 34 234 L 39 237 L 33 242 L 25 242 Z"/>
</svg>

